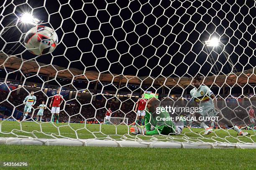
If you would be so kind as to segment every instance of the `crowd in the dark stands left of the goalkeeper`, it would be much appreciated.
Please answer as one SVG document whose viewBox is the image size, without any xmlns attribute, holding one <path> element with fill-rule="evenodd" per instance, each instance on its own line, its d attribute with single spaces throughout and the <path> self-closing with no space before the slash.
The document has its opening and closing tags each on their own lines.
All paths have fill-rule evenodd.
<svg viewBox="0 0 256 170">
<path fill-rule="evenodd" d="M 42 101 L 46 101 L 47 97 L 44 96 L 42 93 L 41 94 L 36 93 L 34 95 L 37 98 L 36 104 L 33 107 L 34 108 L 33 118 L 35 119 L 36 114 L 38 112 L 38 109 L 36 109 L 36 107 L 38 107 Z M 23 112 L 23 109 L 24 109 L 23 100 L 25 99 L 26 96 L 27 96 L 26 93 L 16 94 L 15 92 L 12 92 L 10 96 L 8 96 L 7 92 L 1 91 L 0 107 L 8 107 L 10 110 L 13 110 L 13 106 L 16 106 L 15 110 Z M 49 108 L 50 100 L 51 98 L 49 98 L 48 103 L 46 103 L 48 108 L 44 110 L 44 116 L 43 116 L 43 120 L 47 122 L 49 122 L 51 119 L 51 111 Z M 105 103 L 106 103 L 105 100 L 97 99 L 95 101 L 92 101 L 92 103 L 90 103 L 90 100 L 85 100 L 85 99 L 77 99 L 77 100 L 67 101 L 65 105 L 64 103 L 61 105 L 59 122 L 80 123 L 81 121 L 89 120 L 92 122 L 99 121 L 100 123 L 102 123 L 104 122 L 105 113 L 108 108 L 111 108 L 113 112 L 112 117 L 128 118 L 128 123 L 133 123 L 135 121 L 136 114 L 135 112 L 132 111 L 134 102 L 131 100 L 125 101 L 123 103 L 120 103 L 118 101 L 108 100 L 106 107 L 105 107 Z M 9 115 L 3 114 L 2 117 L 6 118 L 8 116 Z M 31 114 L 29 114 L 29 116 L 31 116 Z M 20 119 L 20 117 L 18 116 L 15 118 Z"/>
</svg>

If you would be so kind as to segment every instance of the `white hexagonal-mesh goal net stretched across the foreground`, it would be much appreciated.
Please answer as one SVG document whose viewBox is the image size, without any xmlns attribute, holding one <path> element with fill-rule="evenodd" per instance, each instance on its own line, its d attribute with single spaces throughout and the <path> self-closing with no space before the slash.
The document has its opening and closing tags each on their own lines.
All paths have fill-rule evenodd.
<svg viewBox="0 0 256 170">
<path fill-rule="evenodd" d="M 256 148 L 255 11 L 255 0 L 2 0 L 0 144 Z"/>
</svg>

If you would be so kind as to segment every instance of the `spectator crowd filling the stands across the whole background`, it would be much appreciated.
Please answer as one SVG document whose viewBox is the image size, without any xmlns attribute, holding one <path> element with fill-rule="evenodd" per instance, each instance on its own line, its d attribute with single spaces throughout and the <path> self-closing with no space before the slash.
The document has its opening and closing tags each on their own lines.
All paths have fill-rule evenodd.
<svg viewBox="0 0 256 170">
<path fill-rule="evenodd" d="M 23 113 L 24 105 L 23 100 L 28 95 L 27 93 L 20 93 L 16 94 L 15 91 L 13 91 L 9 96 L 8 93 L 5 91 L 0 92 L 0 107 L 8 107 L 10 110 L 13 110 L 13 106 L 16 106 L 15 109 L 17 111 L 20 111 L 20 113 Z M 36 118 L 36 114 L 38 112 L 38 109 L 36 109 L 37 106 L 41 104 L 42 101 L 47 101 L 47 97 L 43 93 L 36 93 L 35 94 L 37 100 L 36 105 L 34 106 L 34 112 L 33 112 L 33 118 Z M 7 100 L 8 99 L 8 100 Z M 49 108 L 51 97 L 48 99 L 48 102 L 46 103 L 47 109 L 44 111 L 43 120 L 45 122 L 49 122 L 51 119 L 51 111 Z M 164 99 L 161 101 L 161 106 L 173 106 L 177 104 L 181 104 L 180 102 L 174 102 L 172 99 Z M 244 122 L 248 122 L 246 117 L 248 117 L 248 113 L 246 109 L 249 105 L 248 103 L 245 103 L 242 106 L 239 106 L 236 102 L 225 102 L 227 104 L 227 107 L 220 106 L 220 108 L 224 108 L 223 114 L 232 119 L 232 122 L 236 125 L 239 125 L 241 127 L 246 126 Z M 183 104 L 184 105 L 184 104 Z M 113 112 L 111 117 L 122 117 L 122 118 L 128 118 L 128 124 L 132 124 L 135 122 L 136 119 L 136 113 L 134 112 L 135 103 L 133 100 L 129 99 L 123 102 L 113 101 L 111 99 L 105 100 L 105 99 L 96 99 L 95 101 L 92 101 L 90 103 L 90 100 L 86 99 L 73 99 L 70 101 L 67 101 L 66 104 L 64 103 L 61 105 L 61 112 L 59 117 L 59 122 L 73 122 L 73 123 L 80 123 L 83 121 L 89 121 L 89 122 L 104 122 L 104 117 L 106 110 L 110 108 Z M 234 112 L 232 110 L 236 110 L 237 112 Z M 231 113 L 231 114 L 230 114 Z M 31 114 L 29 114 L 31 116 Z M 6 115 L 5 113 L 0 113 L 0 118 L 7 118 L 9 115 Z M 20 116 L 22 115 L 14 115 L 16 119 L 20 119 Z M 243 122 L 243 119 L 245 121 Z M 248 122 L 249 123 L 249 122 Z"/>
</svg>

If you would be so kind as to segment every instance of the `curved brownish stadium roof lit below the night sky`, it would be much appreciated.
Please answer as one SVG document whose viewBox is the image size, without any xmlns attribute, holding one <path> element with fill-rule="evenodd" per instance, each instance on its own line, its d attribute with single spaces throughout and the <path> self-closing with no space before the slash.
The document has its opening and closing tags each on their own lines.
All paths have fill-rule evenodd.
<svg viewBox="0 0 256 170">
<path fill-rule="evenodd" d="M 23 61 L 23 62 L 22 62 Z M 40 67 L 39 67 L 40 66 Z M 154 86 L 189 86 L 191 83 L 191 78 L 171 78 L 171 77 L 150 77 L 150 76 L 131 76 L 131 75 L 118 75 L 110 74 L 109 72 L 99 73 L 97 71 L 83 71 L 75 68 L 64 68 L 56 65 L 46 65 L 44 63 L 38 63 L 33 60 L 24 60 L 16 56 L 6 56 L 0 53 L 0 68 L 6 68 L 9 70 L 21 70 L 23 73 L 33 73 L 49 77 L 57 77 L 79 80 L 89 80 L 89 81 L 101 81 L 109 83 L 121 83 L 121 84 L 142 84 L 143 85 L 154 85 Z M 74 75 L 74 76 L 73 76 Z M 244 86 L 245 84 L 256 84 L 256 72 L 254 69 L 249 69 L 243 72 L 232 73 L 227 75 L 217 75 L 217 76 L 207 76 L 204 80 L 204 84 L 207 86 Z"/>
</svg>

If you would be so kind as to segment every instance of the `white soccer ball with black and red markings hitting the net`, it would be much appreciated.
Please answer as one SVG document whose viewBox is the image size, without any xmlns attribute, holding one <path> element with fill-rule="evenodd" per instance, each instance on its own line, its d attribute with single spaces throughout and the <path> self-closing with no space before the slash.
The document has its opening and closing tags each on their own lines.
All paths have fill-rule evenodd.
<svg viewBox="0 0 256 170">
<path fill-rule="evenodd" d="M 55 50 L 58 36 L 54 29 L 38 25 L 26 33 L 24 43 L 29 52 L 35 55 L 42 55 Z"/>
</svg>

